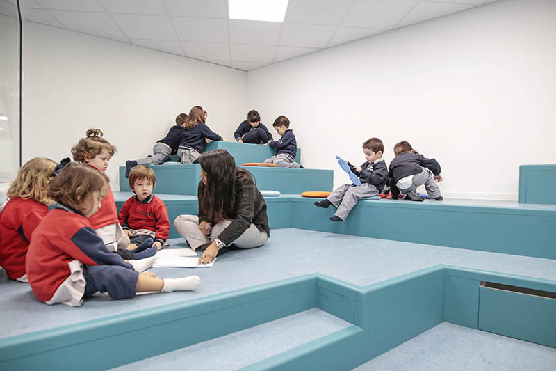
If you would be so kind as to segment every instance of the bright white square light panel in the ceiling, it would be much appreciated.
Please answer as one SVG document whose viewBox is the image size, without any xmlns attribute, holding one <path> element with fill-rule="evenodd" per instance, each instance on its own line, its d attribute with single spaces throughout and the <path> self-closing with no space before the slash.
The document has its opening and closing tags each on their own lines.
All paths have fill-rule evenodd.
<svg viewBox="0 0 556 371">
<path fill-rule="evenodd" d="M 230 19 L 284 22 L 289 0 L 228 0 Z"/>
</svg>

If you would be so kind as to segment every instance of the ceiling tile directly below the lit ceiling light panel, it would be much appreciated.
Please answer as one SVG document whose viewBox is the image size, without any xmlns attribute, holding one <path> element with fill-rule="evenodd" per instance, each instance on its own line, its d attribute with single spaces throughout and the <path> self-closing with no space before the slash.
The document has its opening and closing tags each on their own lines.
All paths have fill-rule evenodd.
<svg viewBox="0 0 556 371">
<path fill-rule="evenodd" d="M 277 45 L 282 24 L 279 22 L 229 21 L 230 40 L 236 44 Z"/>
</svg>

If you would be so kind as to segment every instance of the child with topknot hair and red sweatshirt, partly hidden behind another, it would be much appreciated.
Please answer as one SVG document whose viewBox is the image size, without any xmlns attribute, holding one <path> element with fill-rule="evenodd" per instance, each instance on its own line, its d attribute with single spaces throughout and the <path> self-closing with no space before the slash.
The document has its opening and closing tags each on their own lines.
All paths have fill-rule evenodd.
<svg viewBox="0 0 556 371">
<path fill-rule="evenodd" d="M 79 143 L 72 148 L 75 161 L 86 164 L 102 174 L 108 168 L 108 161 L 115 152 L 116 148 L 102 138 L 99 129 L 88 129 L 87 137 L 80 139 Z M 108 249 L 111 251 L 117 251 L 117 248 L 126 250 L 129 246 L 129 238 L 122 230 L 117 217 L 116 202 L 110 185 L 106 196 L 102 199 L 101 211 L 92 215 L 89 223 L 104 244 L 109 245 Z"/>
</svg>

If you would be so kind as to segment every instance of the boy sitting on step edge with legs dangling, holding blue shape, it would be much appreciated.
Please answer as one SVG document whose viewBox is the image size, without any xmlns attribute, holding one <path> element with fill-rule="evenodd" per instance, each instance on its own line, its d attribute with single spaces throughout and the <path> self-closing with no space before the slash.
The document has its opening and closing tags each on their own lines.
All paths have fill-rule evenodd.
<svg viewBox="0 0 556 371">
<path fill-rule="evenodd" d="M 325 200 L 317 201 L 315 205 L 324 207 L 330 205 L 337 207 L 336 214 L 330 217 L 331 221 L 345 221 L 347 214 L 353 209 L 360 198 L 378 196 L 388 180 L 388 168 L 382 158 L 384 144 L 378 138 L 371 138 L 363 143 L 363 153 L 367 160 L 363 165 L 354 167 L 349 162 L 352 173 L 359 177 L 360 186 L 344 184 L 334 189 Z"/>
</svg>

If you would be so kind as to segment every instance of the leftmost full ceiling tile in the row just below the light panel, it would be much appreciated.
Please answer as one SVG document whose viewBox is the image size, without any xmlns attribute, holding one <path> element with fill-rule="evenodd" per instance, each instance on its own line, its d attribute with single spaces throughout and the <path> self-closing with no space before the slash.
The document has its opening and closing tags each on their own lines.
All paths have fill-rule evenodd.
<svg viewBox="0 0 556 371">
<path fill-rule="evenodd" d="M 50 10 L 49 12 L 70 30 L 103 38 L 125 37 L 107 13 L 67 12 L 65 10 Z"/>
</svg>

